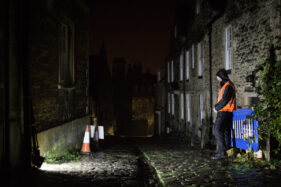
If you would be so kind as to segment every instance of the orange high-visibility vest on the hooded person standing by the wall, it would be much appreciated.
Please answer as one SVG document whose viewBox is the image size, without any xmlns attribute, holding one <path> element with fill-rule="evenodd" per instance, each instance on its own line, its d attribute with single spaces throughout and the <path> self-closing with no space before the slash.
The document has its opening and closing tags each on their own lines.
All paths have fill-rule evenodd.
<svg viewBox="0 0 281 187">
<path fill-rule="evenodd" d="M 231 99 L 228 101 L 228 103 L 222 108 L 220 109 L 218 112 L 220 111 L 228 111 L 228 112 L 233 112 L 234 110 L 236 110 L 236 96 L 235 96 L 235 87 L 234 84 L 231 81 L 227 81 L 223 87 L 219 90 L 219 95 L 218 95 L 218 101 L 222 100 L 222 96 L 224 94 L 224 90 L 226 88 L 226 86 L 231 86 L 233 88 L 233 95 L 231 96 Z"/>
</svg>

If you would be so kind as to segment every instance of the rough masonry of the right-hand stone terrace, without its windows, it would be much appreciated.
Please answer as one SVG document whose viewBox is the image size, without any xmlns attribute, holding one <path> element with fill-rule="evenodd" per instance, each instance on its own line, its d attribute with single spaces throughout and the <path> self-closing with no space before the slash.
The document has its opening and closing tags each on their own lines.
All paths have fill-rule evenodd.
<svg viewBox="0 0 281 187">
<path fill-rule="evenodd" d="M 280 3 L 276 0 L 270 1 L 227 1 L 224 14 L 218 17 L 212 24 L 212 95 L 213 105 L 217 100 L 219 83 L 216 80 L 216 73 L 219 69 L 225 68 L 225 28 L 232 28 L 232 69 L 230 79 L 235 83 L 238 108 L 245 108 L 253 104 L 250 97 L 256 97 L 251 82 L 246 77 L 252 75 L 256 65 L 265 60 L 269 55 L 272 44 L 276 44 L 276 36 L 280 34 L 280 12 L 276 7 Z M 179 92 L 191 94 L 191 123 L 187 123 L 189 132 L 196 137 L 201 136 L 204 125 L 200 119 L 199 95 L 204 95 L 205 118 L 210 116 L 210 68 L 209 68 L 209 35 L 207 23 L 211 21 L 207 15 L 210 7 L 202 6 L 203 10 L 199 15 L 194 16 L 193 22 L 187 30 L 187 41 L 181 44 L 180 50 L 190 51 L 190 79 L 185 82 L 185 89 L 181 86 Z M 212 17 L 212 16 L 210 16 Z M 207 18 L 207 19 L 205 19 Z M 198 78 L 197 44 L 203 44 L 203 76 Z M 195 68 L 191 68 L 191 47 L 195 46 Z M 171 51 L 174 49 L 172 48 Z M 176 59 L 175 75 L 179 75 L 180 51 L 172 52 L 173 59 Z M 175 61 L 175 60 L 174 60 Z M 176 79 L 176 82 L 179 82 Z M 179 83 L 183 84 L 183 83 Z M 172 90 L 173 92 L 173 90 Z M 176 101 L 176 108 L 178 99 Z M 181 126 L 184 121 L 176 115 L 170 116 L 169 123 L 174 126 Z M 213 113 L 213 119 L 216 114 Z M 203 125 L 203 126 L 202 126 Z M 208 125 L 208 124 L 207 124 Z M 204 134 L 204 132 L 203 132 Z"/>
</svg>

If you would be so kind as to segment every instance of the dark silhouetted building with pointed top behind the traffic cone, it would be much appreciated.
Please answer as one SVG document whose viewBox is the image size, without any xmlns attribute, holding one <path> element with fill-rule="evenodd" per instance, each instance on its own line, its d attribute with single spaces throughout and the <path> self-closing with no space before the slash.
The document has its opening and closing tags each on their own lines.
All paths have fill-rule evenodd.
<svg viewBox="0 0 281 187">
<path fill-rule="evenodd" d="M 113 105 L 113 81 L 104 45 L 98 55 L 90 56 L 90 113 L 104 126 L 106 135 L 114 135 L 116 120 Z"/>
</svg>

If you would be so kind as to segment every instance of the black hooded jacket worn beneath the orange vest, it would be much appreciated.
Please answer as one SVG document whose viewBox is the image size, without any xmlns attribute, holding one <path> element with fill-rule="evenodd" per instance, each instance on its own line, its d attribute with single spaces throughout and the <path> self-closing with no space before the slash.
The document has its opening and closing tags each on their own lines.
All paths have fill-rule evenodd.
<svg viewBox="0 0 281 187">
<path fill-rule="evenodd" d="M 224 69 L 220 70 L 217 73 L 217 76 L 222 79 L 222 82 L 220 83 L 221 87 L 223 87 L 223 85 L 227 81 L 230 81 L 229 78 L 228 78 L 228 75 L 227 75 L 227 73 Z M 235 94 L 233 88 L 230 85 L 226 86 L 225 90 L 224 90 L 224 93 L 223 93 L 223 96 L 222 96 L 222 99 L 217 104 L 215 104 L 215 109 L 217 111 L 222 109 L 229 102 L 229 100 L 231 99 L 233 94 Z"/>
</svg>

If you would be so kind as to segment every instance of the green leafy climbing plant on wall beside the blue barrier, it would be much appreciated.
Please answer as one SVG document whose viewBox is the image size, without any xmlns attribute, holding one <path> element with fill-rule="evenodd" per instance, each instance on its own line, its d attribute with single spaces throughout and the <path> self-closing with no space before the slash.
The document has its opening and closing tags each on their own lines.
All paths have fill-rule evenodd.
<svg viewBox="0 0 281 187">
<path fill-rule="evenodd" d="M 260 63 L 255 71 L 256 93 L 259 102 L 254 107 L 254 118 L 259 121 L 259 134 L 266 139 L 271 134 L 281 147 L 281 61 L 271 47 L 270 57 Z M 278 148 L 278 149 L 279 149 Z"/>
</svg>

